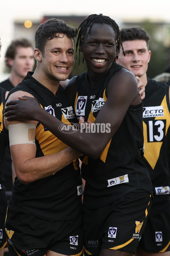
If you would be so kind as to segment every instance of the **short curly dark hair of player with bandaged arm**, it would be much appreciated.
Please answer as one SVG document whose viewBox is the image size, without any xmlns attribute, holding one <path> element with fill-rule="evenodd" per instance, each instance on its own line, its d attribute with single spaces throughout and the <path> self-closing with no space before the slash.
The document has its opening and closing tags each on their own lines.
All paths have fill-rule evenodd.
<svg viewBox="0 0 170 256">
<path fill-rule="evenodd" d="M 77 29 L 65 23 L 64 20 L 51 18 L 40 24 L 35 32 L 35 48 L 38 48 L 42 55 L 44 54 L 44 46 L 47 40 L 59 37 L 59 33 L 67 35 L 75 40 Z"/>
</svg>

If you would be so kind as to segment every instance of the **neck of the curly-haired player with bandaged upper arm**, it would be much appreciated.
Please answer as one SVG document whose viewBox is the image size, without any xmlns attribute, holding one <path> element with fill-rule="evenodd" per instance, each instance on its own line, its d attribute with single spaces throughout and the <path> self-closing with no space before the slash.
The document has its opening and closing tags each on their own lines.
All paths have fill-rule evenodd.
<svg viewBox="0 0 170 256">
<path fill-rule="evenodd" d="M 37 69 L 35 69 L 35 72 L 33 73 L 32 77 L 36 79 L 39 83 L 44 85 L 46 88 L 48 88 L 54 95 L 57 94 L 60 81 L 50 80 L 48 77 L 42 75 L 39 71 L 37 71 Z"/>
</svg>

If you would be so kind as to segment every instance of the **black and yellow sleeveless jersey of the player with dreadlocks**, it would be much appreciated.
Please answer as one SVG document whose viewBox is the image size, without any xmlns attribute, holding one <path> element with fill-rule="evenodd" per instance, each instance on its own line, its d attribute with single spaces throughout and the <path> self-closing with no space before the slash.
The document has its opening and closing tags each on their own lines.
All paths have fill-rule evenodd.
<svg viewBox="0 0 170 256">
<path fill-rule="evenodd" d="M 107 100 L 110 79 L 122 68 L 113 63 L 95 87 L 89 82 L 88 72 L 76 78 L 74 102 L 77 119 L 83 116 L 86 121 L 94 123 Z M 129 106 L 120 127 L 100 157 L 94 160 L 85 156 L 81 167 L 82 178 L 86 181 L 83 197 L 85 207 L 107 205 L 135 189 L 152 193 L 150 177 L 142 162 L 142 112 L 142 102 Z"/>
</svg>

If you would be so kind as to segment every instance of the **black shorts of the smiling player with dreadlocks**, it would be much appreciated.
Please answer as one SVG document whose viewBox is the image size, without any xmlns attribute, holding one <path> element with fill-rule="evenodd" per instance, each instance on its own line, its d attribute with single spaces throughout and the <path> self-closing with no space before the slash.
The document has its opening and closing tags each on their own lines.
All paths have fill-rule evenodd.
<svg viewBox="0 0 170 256">
<path fill-rule="evenodd" d="M 149 193 L 132 191 L 110 205 L 84 208 L 84 252 L 99 255 L 101 248 L 135 253 L 152 204 Z"/>
</svg>

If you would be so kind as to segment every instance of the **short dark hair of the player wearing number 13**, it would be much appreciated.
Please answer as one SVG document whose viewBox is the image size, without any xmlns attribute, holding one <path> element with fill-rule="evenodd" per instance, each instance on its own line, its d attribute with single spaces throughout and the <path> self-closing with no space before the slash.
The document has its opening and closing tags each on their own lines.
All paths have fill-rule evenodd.
<svg viewBox="0 0 170 256">
<path fill-rule="evenodd" d="M 124 41 L 133 41 L 133 40 L 144 40 L 146 41 L 147 47 L 149 49 L 149 40 L 147 32 L 142 27 L 131 27 L 131 28 L 122 28 L 120 30 L 121 40 Z"/>
</svg>

